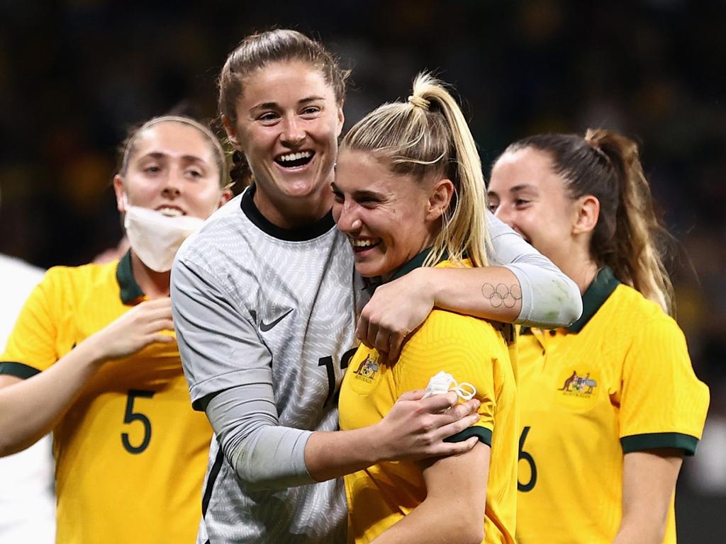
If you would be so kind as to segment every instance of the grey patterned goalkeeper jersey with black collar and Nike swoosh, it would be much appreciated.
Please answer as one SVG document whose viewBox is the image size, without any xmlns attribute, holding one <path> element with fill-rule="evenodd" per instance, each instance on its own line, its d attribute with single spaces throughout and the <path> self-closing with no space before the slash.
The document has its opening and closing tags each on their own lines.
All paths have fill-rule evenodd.
<svg viewBox="0 0 726 544">
<path fill-rule="evenodd" d="M 356 346 L 363 283 L 330 214 L 285 231 L 258 212 L 253 191 L 232 199 L 184 242 L 171 277 L 192 403 L 204 409 L 219 394 L 212 401 L 219 404 L 213 419 L 219 434 L 211 445 L 197 543 L 344 543 L 342 479 L 286 486 L 311 481 L 303 459 L 309 433 L 338 429 L 336 393 Z M 521 284 L 523 321 L 568 324 L 579 317 L 576 285 L 492 214 L 487 218 L 492 260 L 507 265 Z M 548 293 L 552 301 L 544 300 Z M 237 391 L 241 402 L 227 397 Z M 228 400 L 234 418 L 226 420 Z M 227 429 L 237 440 L 237 449 L 230 449 L 249 453 L 245 474 L 270 460 L 282 467 L 275 490 L 253 485 L 255 474 L 246 484 L 238 476 L 242 470 L 219 445 L 229 446 Z M 263 452 L 264 460 L 258 457 Z"/>
</svg>

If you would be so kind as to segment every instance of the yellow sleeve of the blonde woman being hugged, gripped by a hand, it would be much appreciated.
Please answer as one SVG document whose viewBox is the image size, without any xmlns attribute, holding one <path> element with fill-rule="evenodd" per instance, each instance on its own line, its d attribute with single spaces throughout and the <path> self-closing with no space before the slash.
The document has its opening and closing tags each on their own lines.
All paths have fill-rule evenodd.
<svg viewBox="0 0 726 544">
<path fill-rule="evenodd" d="M 481 402 L 479 421 L 446 439 L 448 442 L 476 436 L 492 445 L 497 407 L 493 355 L 501 353 L 503 345 L 501 339 L 502 345 L 497 344 L 497 334 L 486 321 L 434 310 L 401 350 L 401 358 L 394 366 L 397 395 L 425 389 L 439 371 L 476 388 L 475 398 Z"/>
</svg>

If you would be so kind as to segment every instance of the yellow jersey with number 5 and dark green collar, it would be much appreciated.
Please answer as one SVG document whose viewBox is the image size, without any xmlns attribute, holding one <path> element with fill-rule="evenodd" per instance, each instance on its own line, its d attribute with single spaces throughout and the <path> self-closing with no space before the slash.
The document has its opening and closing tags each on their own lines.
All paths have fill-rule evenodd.
<svg viewBox="0 0 726 544">
<path fill-rule="evenodd" d="M 20 313 L 0 374 L 46 370 L 143 299 L 129 254 L 51 268 Z M 57 542 L 194 542 L 211 434 L 192 411 L 176 343 L 105 363 L 53 432 Z"/>
</svg>

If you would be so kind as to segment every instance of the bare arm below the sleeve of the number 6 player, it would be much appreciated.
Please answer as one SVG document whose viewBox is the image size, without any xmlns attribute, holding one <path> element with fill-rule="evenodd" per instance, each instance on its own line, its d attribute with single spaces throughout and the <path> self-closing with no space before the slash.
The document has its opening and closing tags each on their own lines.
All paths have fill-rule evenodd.
<svg viewBox="0 0 726 544">
<path fill-rule="evenodd" d="M 623 459 L 623 516 L 613 544 L 660 544 L 678 471 L 681 450 L 626 453 Z"/>
</svg>

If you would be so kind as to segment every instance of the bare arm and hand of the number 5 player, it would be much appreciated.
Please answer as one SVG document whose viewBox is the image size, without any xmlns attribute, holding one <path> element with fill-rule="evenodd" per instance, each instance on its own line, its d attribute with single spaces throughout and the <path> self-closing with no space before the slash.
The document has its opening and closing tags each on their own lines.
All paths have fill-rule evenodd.
<svg viewBox="0 0 726 544">
<path fill-rule="evenodd" d="M 46 371 L 25 380 L 0 376 L 0 457 L 52 431 L 88 379 L 105 363 L 154 342 L 174 342 L 168 297 L 142 302 L 78 344 Z M 32 361 L 28 361 L 32 363 Z"/>
</svg>

